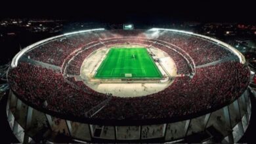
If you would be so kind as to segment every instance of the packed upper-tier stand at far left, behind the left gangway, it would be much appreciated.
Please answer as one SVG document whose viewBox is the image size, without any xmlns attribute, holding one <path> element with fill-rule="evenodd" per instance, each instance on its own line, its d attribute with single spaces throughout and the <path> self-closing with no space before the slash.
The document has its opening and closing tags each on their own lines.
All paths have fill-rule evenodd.
<svg viewBox="0 0 256 144">
<path fill-rule="evenodd" d="M 72 54 L 74 50 L 97 40 L 98 37 L 91 36 L 88 33 L 56 39 L 33 48 L 26 53 L 26 57 L 61 67 L 65 58 Z"/>
</svg>

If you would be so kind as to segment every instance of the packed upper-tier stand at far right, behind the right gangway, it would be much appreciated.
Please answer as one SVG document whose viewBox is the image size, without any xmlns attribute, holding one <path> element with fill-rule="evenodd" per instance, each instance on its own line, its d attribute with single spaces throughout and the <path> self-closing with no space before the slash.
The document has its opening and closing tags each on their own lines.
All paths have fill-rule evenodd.
<svg viewBox="0 0 256 144">
<path fill-rule="evenodd" d="M 163 35 L 160 35 L 158 40 L 182 48 L 182 50 L 186 51 L 192 57 L 196 65 L 203 65 L 234 56 L 234 54 L 216 43 L 184 33 L 167 31 Z"/>
</svg>

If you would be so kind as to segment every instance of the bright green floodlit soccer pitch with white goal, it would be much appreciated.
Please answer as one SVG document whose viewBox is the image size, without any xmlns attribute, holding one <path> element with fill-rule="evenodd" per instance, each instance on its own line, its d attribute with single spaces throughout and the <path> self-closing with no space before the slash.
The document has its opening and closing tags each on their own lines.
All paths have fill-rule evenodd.
<svg viewBox="0 0 256 144">
<path fill-rule="evenodd" d="M 162 75 L 146 48 L 110 48 L 95 78 L 161 79 Z"/>
</svg>

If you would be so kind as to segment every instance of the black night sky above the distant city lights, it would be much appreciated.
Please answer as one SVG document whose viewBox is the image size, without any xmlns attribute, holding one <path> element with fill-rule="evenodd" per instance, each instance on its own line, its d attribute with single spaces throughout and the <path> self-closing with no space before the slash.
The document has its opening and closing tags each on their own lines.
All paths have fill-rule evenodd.
<svg viewBox="0 0 256 144">
<path fill-rule="evenodd" d="M 255 23 L 254 7 L 253 2 L 249 1 L 22 1 L 1 5 L 0 18 L 64 18 L 145 23 L 169 20 Z"/>
</svg>

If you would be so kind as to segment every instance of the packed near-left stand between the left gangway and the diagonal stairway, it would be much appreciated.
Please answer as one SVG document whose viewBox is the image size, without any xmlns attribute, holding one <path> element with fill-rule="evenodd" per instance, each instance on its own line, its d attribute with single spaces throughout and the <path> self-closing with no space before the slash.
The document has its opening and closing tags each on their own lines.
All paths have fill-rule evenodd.
<svg viewBox="0 0 256 144">
<path fill-rule="evenodd" d="M 30 63 L 19 63 L 8 77 L 12 90 L 25 101 L 37 107 L 43 107 L 47 101 L 46 109 L 66 115 L 81 117 L 107 98 L 104 94 L 77 90 L 64 81 L 61 73 Z"/>
</svg>

